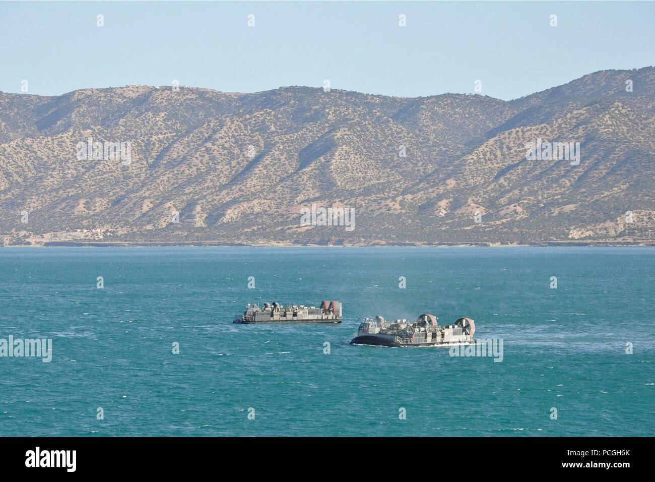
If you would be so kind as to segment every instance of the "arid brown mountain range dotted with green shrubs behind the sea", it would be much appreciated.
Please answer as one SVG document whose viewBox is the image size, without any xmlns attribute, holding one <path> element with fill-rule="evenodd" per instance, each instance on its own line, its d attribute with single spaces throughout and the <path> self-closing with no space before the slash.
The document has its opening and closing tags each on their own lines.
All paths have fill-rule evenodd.
<svg viewBox="0 0 655 482">
<path fill-rule="evenodd" d="M 89 140 L 129 150 L 94 159 Z M 552 143 L 578 146 L 579 162 L 548 155 Z M 508 102 L 310 87 L 0 93 L 4 245 L 654 244 L 654 181 L 652 67 Z M 307 225 L 312 204 L 354 224 Z"/>
</svg>

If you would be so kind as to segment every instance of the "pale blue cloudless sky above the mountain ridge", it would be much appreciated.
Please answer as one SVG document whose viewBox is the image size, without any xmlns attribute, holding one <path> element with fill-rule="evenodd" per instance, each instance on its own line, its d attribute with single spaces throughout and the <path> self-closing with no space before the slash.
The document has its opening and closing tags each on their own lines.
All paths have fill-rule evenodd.
<svg viewBox="0 0 655 482">
<path fill-rule="evenodd" d="M 257 92 L 329 79 L 333 89 L 426 96 L 474 92 L 480 79 L 482 94 L 508 100 L 655 64 L 655 3 L 0 2 L 0 40 L 5 92 L 23 79 L 45 95 L 173 79 Z"/>
</svg>

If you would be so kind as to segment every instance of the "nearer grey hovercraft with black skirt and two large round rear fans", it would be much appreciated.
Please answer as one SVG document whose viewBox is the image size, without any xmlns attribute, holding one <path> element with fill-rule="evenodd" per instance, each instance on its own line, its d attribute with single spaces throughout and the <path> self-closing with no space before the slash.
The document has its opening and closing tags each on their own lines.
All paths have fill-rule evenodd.
<svg viewBox="0 0 655 482">
<path fill-rule="evenodd" d="M 419 316 L 415 323 L 405 319 L 386 321 L 381 316 L 375 320 L 365 319 L 357 336 L 350 341 L 352 345 L 377 346 L 453 346 L 472 344 L 476 325 L 470 318 L 460 318 L 455 325 L 440 327 L 437 318 L 427 313 Z"/>
</svg>

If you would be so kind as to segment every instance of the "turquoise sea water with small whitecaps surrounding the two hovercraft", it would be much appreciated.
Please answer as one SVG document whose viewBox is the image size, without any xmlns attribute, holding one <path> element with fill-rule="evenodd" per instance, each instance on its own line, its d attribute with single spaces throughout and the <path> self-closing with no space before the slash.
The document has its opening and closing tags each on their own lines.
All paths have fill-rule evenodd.
<svg viewBox="0 0 655 482">
<path fill-rule="evenodd" d="M 52 361 L 0 357 L 0 435 L 654 435 L 654 271 L 648 248 L 1 249 L 0 338 Z M 231 323 L 322 300 L 342 325 Z M 503 361 L 348 345 L 423 312 Z"/>
</svg>

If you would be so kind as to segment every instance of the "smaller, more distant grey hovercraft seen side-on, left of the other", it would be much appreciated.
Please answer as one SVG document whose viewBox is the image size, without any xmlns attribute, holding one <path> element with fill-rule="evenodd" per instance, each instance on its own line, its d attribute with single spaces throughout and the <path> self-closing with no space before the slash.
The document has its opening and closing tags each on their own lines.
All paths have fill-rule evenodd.
<svg viewBox="0 0 655 482">
<path fill-rule="evenodd" d="M 341 303 L 324 301 L 316 306 L 264 303 L 248 304 L 243 315 L 236 315 L 233 323 L 341 323 Z"/>
</svg>

